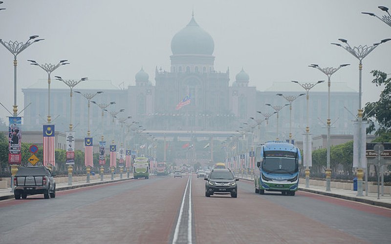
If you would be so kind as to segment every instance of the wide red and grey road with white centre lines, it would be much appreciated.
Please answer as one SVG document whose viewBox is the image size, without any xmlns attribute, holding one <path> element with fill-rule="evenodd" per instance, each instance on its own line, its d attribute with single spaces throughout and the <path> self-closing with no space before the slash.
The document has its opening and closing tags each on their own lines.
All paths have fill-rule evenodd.
<svg viewBox="0 0 391 244">
<path fill-rule="evenodd" d="M 189 179 L 190 178 L 190 179 Z M 205 197 L 203 179 L 151 177 L 0 202 L 0 243 L 389 243 L 391 209 L 297 192 Z"/>
</svg>

